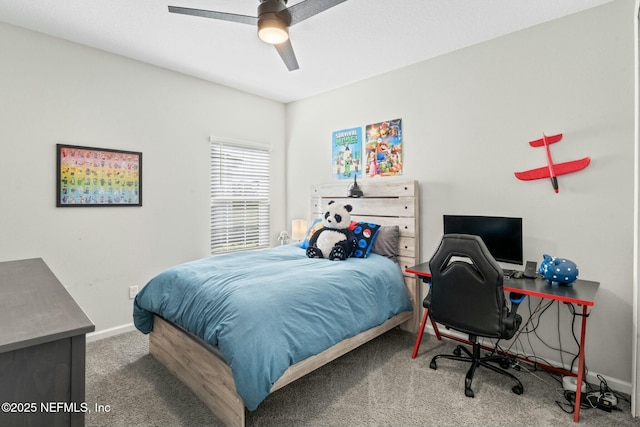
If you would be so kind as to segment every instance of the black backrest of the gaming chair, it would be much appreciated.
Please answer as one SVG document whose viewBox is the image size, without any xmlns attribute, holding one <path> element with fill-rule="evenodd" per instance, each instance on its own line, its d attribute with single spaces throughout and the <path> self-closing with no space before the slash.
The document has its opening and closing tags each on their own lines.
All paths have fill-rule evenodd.
<svg viewBox="0 0 640 427">
<path fill-rule="evenodd" d="M 470 335 L 502 337 L 503 272 L 480 237 L 445 234 L 429 268 L 429 315 L 436 322 Z"/>
</svg>

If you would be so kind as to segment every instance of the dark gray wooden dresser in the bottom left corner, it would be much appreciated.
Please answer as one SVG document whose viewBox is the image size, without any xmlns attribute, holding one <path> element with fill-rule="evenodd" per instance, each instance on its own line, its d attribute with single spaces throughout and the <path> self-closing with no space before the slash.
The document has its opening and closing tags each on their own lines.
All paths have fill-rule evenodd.
<svg viewBox="0 0 640 427">
<path fill-rule="evenodd" d="M 84 426 L 93 330 L 42 259 L 0 262 L 0 425 Z"/>
</svg>

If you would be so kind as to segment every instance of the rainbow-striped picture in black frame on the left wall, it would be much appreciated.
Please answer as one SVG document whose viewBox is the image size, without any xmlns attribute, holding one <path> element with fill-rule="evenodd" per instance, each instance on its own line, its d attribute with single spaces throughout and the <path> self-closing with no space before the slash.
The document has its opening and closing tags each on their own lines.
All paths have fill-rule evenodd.
<svg viewBox="0 0 640 427">
<path fill-rule="evenodd" d="M 142 206 L 142 153 L 56 145 L 56 206 Z"/>
</svg>

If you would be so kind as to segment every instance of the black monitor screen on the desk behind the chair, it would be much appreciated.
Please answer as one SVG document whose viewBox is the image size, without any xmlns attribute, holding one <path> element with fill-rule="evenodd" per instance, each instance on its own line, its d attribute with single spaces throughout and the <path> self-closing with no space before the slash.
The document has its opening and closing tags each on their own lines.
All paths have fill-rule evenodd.
<svg viewBox="0 0 640 427">
<path fill-rule="evenodd" d="M 496 261 L 522 265 L 522 218 L 444 215 L 444 234 L 480 236 Z"/>
</svg>

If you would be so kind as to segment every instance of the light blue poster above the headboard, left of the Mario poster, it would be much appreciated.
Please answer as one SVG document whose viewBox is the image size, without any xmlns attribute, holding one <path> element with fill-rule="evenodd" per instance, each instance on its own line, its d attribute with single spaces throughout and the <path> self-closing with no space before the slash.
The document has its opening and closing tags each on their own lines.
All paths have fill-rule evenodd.
<svg viewBox="0 0 640 427">
<path fill-rule="evenodd" d="M 362 176 L 362 128 L 333 132 L 331 146 L 333 177 L 360 178 Z"/>
</svg>

